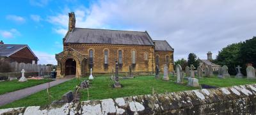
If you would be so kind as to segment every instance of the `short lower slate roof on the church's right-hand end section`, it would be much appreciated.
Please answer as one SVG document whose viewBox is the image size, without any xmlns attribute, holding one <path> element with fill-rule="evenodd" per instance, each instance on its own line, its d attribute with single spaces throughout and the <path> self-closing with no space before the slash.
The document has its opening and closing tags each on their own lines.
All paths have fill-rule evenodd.
<svg viewBox="0 0 256 115">
<path fill-rule="evenodd" d="M 156 43 L 155 50 L 158 51 L 173 51 L 174 49 L 171 47 L 171 45 L 166 42 L 166 40 L 154 40 Z"/>
</svg>

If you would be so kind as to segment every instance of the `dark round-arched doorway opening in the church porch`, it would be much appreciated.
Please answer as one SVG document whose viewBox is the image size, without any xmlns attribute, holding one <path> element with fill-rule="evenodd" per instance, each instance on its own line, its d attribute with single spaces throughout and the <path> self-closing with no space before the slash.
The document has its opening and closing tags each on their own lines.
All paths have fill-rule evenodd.
<svg viewBox="0 0 256 115">
<path fill-rule="evenodd" d="M 65 62 L 65 76 L 76 76 L 75 59 L 67 59 Z"/>
</svg>

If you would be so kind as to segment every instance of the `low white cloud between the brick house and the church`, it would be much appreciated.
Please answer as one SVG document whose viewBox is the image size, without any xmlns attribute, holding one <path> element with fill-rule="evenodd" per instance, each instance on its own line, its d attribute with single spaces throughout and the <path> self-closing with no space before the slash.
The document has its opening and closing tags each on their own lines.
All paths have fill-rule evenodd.
<svg viewBox="0 0 256 115">
<path fill-rule="evenodd" d="M 48 54 L 46 52 L 40 52 L 40 51 L 34 51 L 36 57 L 38 57 L 39 61 L 38 64 L 47 65 L 47 64 L 53 64 L 57 65 L 57 61 L 55 59 L 55 56 L 52 54 Z"/>
</svg>

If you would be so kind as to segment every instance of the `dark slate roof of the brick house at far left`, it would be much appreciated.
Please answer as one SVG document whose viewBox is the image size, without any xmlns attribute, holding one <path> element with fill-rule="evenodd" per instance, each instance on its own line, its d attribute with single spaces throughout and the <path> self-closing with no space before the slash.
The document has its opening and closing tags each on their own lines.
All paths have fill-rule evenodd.
<svg viewBox="0 0 256 115">
<path fill-rule="evenodd" d="M 0 57 L 9 57 L 12 54 L 14 54 L 15 52 L 18 52 L 19 50 L 24 49 L 25 47 L 28 47 L 28 45 L 0 44 Z M 28 47 L 28 49 L 29 49 L 29 47 Z M 29 50 L 31 51 L 31 49 L 29 49 Z M 35 54 L 32 51 L 31 51 L 31 53 L 35 56 Z"/>
</svg>

